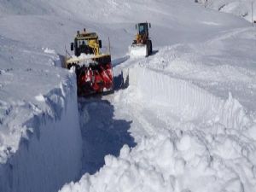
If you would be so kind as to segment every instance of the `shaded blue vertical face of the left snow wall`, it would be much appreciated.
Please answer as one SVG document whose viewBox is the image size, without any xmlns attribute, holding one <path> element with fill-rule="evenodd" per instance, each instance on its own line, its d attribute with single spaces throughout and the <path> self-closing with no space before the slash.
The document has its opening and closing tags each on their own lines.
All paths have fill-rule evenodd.
<svg viewBox="0 0 256 192">
<path fill-rule="evenodd" d="M 73 73 L 51 90 L 46 112 L 26 121 L 26 137 L 5 164 L 0 165 L 0 191 L 51 192 L 79 177 L 82 138 Z"/>
</svg>

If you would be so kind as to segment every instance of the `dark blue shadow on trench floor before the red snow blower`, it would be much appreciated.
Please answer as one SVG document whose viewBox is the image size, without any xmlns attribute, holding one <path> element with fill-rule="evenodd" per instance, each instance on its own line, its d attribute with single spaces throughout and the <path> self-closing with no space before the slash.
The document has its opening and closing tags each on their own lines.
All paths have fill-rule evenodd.
<svg viewBox="0 0 256 192">
<path fill-rule="evenodd" d="M 98 98 L 80 99 L 79 112 L 84 150 L 81 174 L 94 174 L 104 165 L 105 155 L 119 156 L 125 144 L 136 145 L 128 132 L 131 121 L 113 119 L 114 108 L 110 102 Z"/>
</svg>

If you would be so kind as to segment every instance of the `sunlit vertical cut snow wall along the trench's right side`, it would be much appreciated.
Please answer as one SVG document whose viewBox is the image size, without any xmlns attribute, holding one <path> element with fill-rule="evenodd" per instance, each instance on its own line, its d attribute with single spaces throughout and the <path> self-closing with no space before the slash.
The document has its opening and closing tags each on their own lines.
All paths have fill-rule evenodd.
<svg viewBox="0 0 256 192">
<path fill-rule="evenodd" d="M 173 79 L 145 67 L 130 69 L 130 79 L 143 102 L 168 106 L 171 113 L 186 121 L 213 120 L 235 129 L 242 129 L 250 123 L 244 108 L 231 94 L 224 101 L 189 81 Z"/>
</svg>

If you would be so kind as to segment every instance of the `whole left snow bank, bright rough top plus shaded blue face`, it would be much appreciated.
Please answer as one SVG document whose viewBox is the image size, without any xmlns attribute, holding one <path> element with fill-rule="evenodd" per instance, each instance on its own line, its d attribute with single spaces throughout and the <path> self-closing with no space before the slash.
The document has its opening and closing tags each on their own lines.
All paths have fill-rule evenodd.
<svg viewBox="0 0 256 192">
<path fill-rule="evenodd" d="M 0 39 L 0 191 L 56 191 L 82 166 L 75 74 L 55 54 Z"/>
</svg>

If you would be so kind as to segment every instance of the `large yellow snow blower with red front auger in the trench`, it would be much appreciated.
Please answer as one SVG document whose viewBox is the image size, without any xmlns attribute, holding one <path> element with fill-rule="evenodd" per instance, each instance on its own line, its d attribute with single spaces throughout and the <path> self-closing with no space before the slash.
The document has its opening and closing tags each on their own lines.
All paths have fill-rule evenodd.
<svg viewBox="0 0 256 192">
<path fill-rule="evenodd" d="M 110 54 L 102 54 L 102 40 L 96 32 L 77 32 L 71 51 L 66 50 L 66 67 L 75 67 L 78 95 L 89 96 L 113 90 L 113 69 Z M 69 55 L 69 56 L 67 56 Z"/>
</svg>

